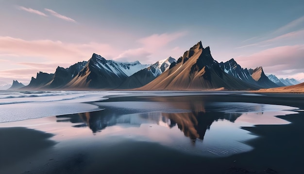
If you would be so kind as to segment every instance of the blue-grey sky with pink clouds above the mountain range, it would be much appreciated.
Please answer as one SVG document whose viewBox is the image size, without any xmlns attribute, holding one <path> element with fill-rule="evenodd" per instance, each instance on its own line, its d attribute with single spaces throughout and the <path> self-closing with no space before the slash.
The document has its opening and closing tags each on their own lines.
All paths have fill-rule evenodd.
<svg viewBox="0 0 304 174">
<path fill-rule="evenodd" d="M 304 0 L 0 0 L 0 85 L 89 60 L 218 62 L 304 78 Z"/>
</svg>

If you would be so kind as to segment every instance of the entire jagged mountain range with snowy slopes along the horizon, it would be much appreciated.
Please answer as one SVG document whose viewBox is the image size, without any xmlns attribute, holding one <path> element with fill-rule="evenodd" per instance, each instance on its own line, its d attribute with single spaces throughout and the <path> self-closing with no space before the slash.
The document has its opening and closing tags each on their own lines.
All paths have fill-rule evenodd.
<svg viewBox="0 0 304 174">
<path fill-rule="evenodd" d="M 88 61 L 57 67 L 54 73 L 40 71 L 27 86 L 13 81 L 10 89 L 255 90 L 298 83 L 267 77 L 262 67 L 244 69 L 234 59 L 219 63 L 200 41 L 178 60 L 168 57 L 150 65 L 106 60 L 93 53 Z"/>
</svg>

